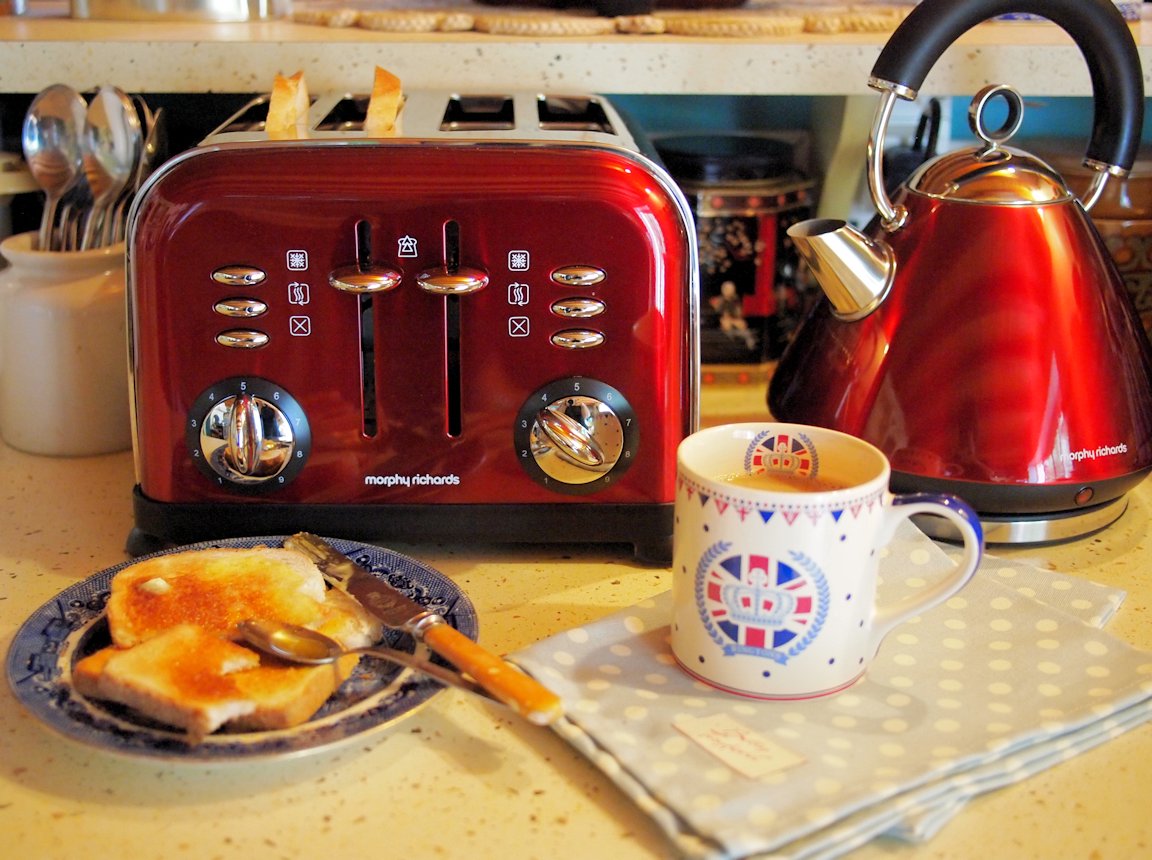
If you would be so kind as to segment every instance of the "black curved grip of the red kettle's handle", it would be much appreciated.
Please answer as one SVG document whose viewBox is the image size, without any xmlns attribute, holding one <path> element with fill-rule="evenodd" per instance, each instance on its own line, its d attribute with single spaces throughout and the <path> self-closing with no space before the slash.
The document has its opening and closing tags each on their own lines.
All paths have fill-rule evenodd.
<svg viewBox="0 0 1152 860">
<path fill-rule="evenodd" d="M 915 99 L 929 70 L 957 38 L 1009 13 L 1048 18 L 1073 37 L 1087 63 L 1094 98 L 1084 163 L 1127 175 L 1143 131 L 1144 78 L 1136 43 L 1112 0 L 923 0 L 884 46 L 869 85 Z"/>
</svg>

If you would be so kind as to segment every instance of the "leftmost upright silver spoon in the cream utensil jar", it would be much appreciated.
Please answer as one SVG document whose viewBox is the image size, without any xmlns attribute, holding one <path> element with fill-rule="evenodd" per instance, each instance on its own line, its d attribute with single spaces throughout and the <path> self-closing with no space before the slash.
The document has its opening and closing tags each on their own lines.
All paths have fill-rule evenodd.
<svg viewBox="0 0 1152 860">
<path fill-rule="evenodd" d="M 52 235 L 56 207 L 83 169 L 81 135 L 85 111 L 78 92 L 65 84 L 53 84 L 32 99 L 24 116 L 24 160 L 45 195 L 38 236 L 41 251 L 56 250 Z"/>
</svg>

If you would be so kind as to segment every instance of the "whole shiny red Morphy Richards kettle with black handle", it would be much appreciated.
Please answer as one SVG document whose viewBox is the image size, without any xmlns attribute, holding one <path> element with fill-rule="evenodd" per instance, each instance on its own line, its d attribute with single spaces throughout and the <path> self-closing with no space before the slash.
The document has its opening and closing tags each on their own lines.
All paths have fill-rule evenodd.
<svg viewBox="0 0 1152 860">
<path fill-rule="evenodd" d="M 1094 122 L 1079 200 L 1039 159 L 1005 145 L 1022 101 L 982 91 L 980 145 L 922 165 L 889 198 L 884 136 L 943 51 L 995 15 L 1062 26 L 1087 62 Z M 968 500 L 993 542 L 1104 527 L 1152 470 L 1152 352 L 1086 214 L 1131 167 L 1143 71 L 1111 0 L 924 0 L 869 84 L 884 96 L 869 142 L 878 215 L 863 231 L 819 219 L 789 235 L 828 300 L 781 357 L 768 408 L 781 420 L 862 436 L 892 461 L 893 489 Z M 1007 102 L 993 128 L 986 108 Z"/>
</svg>

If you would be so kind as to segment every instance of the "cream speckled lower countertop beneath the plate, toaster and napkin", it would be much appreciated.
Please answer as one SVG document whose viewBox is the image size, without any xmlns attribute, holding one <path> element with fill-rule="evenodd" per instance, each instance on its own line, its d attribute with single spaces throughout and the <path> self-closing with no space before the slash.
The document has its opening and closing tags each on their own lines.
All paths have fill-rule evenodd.
<svg viewBox="0 0 1152 860">
<path fill-rule="evenodd" d="M 705 391 L 708 423 L 757 414 L 756 386 Z M 58 459 L 0 443 L 0 649 L 61 589 L 124 560 L 131 455 Z M 1108 630 L 1152 649 L 1152 485 L 1106 531 L 998 550 L 1127 589 Z M 480 639 L 514 652 L 669 586 L 612 546 L 394 546 L 450 577 Z M 973 801 L 932 842 L 852 858 L 1129 860 L 1152 852 L 1152 726 Z M 187 766 L 56 737 L 0 685 L 0 834 L 36 858 L 662 858 L 664 837 L 548 730 L 447 691 L 306 758 Z"/>
</svg>

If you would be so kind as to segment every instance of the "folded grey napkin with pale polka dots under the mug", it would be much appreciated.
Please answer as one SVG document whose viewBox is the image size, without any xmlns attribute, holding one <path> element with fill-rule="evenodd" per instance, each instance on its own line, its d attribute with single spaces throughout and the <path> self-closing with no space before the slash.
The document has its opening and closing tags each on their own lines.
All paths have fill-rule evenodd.
<svg viewBox="0 0 1152 860">
<path fill-rule="evenodd" d="M 882 593 L 952 562 L 908 526 Z M 867 675 L 824 699 L 761 702 L 689 678 L 670 595 L 538 642 L 517 663 L 560 693 L 558 731 L 689 857 L 834 858 L 924 840 L 972 797 L 1152 718 L 1152 654 L 1100 630 L 1123 593 L 994 557 L 899 626 Z"/>
</svg>

